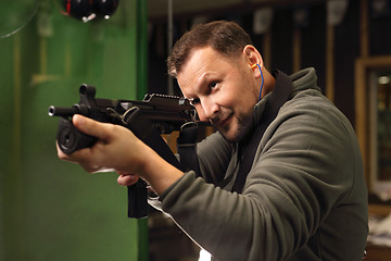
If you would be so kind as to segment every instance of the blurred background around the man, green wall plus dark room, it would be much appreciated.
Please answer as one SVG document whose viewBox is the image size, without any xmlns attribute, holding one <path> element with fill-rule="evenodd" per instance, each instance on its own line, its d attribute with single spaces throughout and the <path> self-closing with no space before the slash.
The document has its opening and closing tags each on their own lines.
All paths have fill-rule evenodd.
<svg viewBox="0 0 391 261">
<path fill-rule="evenodd" d="M 77 103 L 81 84 L 108 99 L 180 95 L 167 54 L 192 25 L 215 20 L 239 23 L 268 70 L 317 70 L 357 132 L 370 211 L 390 212 L 389 0 L 122 0 L 109 20 L 89 22 L 66 15 L 67 2 L 77 1 L 0 2 L 0 260 L 199 259 L 164 215 L 127 217 L 115 174 L 60 161 L 47 110 Z M 390 253 L 371 249 L 386 252 L 371 260 Z"/>
</svg>

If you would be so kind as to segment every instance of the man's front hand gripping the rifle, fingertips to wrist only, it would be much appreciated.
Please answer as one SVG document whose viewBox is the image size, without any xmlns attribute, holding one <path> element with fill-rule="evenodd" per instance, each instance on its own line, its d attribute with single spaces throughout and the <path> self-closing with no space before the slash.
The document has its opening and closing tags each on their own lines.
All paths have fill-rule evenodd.
<svg viewBox="0 0 391 261">
<path fill-rule="evenodd" d="M 87 172 L 116 171 L 142 175 L 151 148 L 129 129 L 75 115 L 73 124 L 80 132 L 98 138 L 91 147 L 65 154 L 58 149 L 60 159 L 81 165 Z"/>
</svg>

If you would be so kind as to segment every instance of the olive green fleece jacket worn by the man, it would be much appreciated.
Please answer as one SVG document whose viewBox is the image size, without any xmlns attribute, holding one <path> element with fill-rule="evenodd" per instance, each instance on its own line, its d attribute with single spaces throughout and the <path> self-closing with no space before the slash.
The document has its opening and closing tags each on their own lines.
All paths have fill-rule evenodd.
<svg viewBox="0 0 391 261">
<path fill-rule="evenodd" d="M 163 211 L 217 260 L 363 258 L 367 189 L 355 133 L 320 94 L 314 69 L 290 77 L 290 100 L 261 139 L 242 194 L 230 192 L 232 182 L 215 186 L 235 181 L 240 165 L 238 144 L 215 133 L 198 145 L 204 178 L 190 171 L 160 197 Z M 255 105 L 255 122 L 267 99 Z"/>
</svg>

